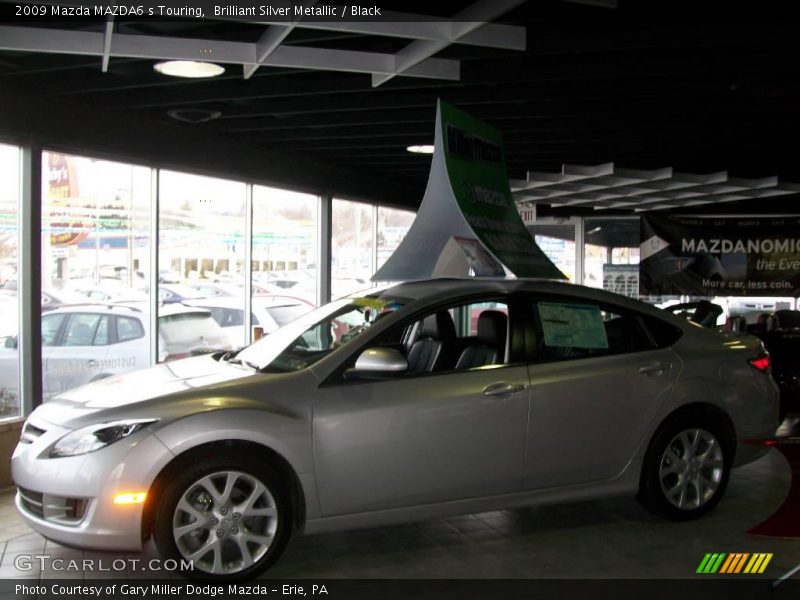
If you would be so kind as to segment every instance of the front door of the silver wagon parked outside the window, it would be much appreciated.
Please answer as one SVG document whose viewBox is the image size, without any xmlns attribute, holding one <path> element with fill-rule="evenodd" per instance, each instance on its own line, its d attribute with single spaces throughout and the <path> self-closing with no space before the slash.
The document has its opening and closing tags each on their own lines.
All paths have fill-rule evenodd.
<svg viewBox="0 0 800 600">
<path fill-rule="evenodd" d="M 109 316 L 70 313 L 56 345 L 50 347 L 45 373 L 50 395 L 89 383 L 99 373 L 108 354 Z"/>
</svg>

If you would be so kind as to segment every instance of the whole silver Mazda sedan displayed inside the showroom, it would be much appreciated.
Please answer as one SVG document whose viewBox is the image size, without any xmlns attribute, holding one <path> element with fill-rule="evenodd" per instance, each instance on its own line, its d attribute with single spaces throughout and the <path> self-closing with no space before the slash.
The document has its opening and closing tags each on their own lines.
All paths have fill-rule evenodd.
<svg viewBox="0 0 800 600">
<path fill-rule="evenodd" d="M 544 281 L 406 283 L 244 350 L 44 403 L 12 462 L 47 538 L 247 577 L 295 529 L 637 494 L 702 515 L 773 435 L 761 343 Z"/>
</svg>

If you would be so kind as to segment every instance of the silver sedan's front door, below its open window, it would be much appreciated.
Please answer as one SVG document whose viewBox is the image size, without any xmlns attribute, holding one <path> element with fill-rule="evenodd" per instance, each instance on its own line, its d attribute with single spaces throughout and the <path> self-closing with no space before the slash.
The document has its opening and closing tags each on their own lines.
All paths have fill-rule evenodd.
<svg viewBox="0 0 800 600">
<path fill-rule="evenodd" d="M 469 308 L 459 338 L 471 341 Z M 456 319 L 458 322 L 459 319 Z M 407 325 L 410 327 L 411 325 Z M 390 334 L 398 341 L 402 332 Z M 378 343 L 378 342 L 375 342 Z M 380 344 L 379 344 L 380 345 Z M 402 347 L 402 341 L 395 347 Z M 524 361 L 335 377 L 314 396 L 313 436 L 323 514 L 491 496 L 520 488 L 528 413 Z"/>
</svg>

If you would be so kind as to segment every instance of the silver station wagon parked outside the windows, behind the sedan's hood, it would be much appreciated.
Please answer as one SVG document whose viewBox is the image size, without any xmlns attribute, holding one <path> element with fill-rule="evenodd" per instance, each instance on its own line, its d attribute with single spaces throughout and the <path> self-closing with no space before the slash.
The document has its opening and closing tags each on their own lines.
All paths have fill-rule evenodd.
<svg viewBox="0 0 800 600">
<path fill-rule="evenodd" d="M 150 321 L 145 309 L 146 304 L 82 304 L 43 314 L 43 399 L 149 366 Z M 17 337 L 0 342 L 0 381 L 16 383 Z M 208 311 L 181 305 L 159 310 L 159 361 L 227 349 L 227 337 Z M 17 389 L 6 391 L 19 394 Z"/>
</svg>

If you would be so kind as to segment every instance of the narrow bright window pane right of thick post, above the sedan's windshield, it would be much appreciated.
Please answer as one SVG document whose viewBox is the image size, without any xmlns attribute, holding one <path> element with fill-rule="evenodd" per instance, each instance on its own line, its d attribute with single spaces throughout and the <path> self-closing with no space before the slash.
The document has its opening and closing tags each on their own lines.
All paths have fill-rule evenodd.
<svg viewBox="0 0 800 600">
<path fill-rule="evenodd" d="M 333 200 L 331 216 L 331 297 L 339 298 L 371 286 L 375 272 L 375 207 Z"/>
</svg>

